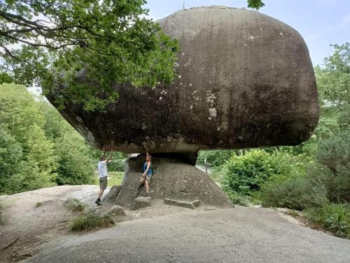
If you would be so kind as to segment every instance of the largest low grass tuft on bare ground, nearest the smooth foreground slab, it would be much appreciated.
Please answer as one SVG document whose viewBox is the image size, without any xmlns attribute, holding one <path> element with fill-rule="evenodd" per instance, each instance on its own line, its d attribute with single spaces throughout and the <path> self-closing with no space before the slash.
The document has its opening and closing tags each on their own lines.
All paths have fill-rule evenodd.
<svg viewBox="0 0 350 263">
<path fill-rule="evenodd" d="M 77 217 L 71 223 L 71 231 L 92 231 L 113 226 L 114 222 L 109 215 L 87 214 Z"/>
</svg>

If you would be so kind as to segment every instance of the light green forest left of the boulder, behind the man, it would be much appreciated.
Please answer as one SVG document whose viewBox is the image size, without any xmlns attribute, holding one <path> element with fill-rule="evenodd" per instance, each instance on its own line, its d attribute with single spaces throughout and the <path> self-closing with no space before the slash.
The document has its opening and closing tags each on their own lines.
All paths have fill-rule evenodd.
<svg viewBox="0 0 350 263">
<path fill-rule="evenodd" d="M 0 194 L 97 183 L 101 155 L 43 97 L 25 86 L 0 86 Z M 109 170 L 123 171 L 125 158 L 114 153 Z"/>
</svg>

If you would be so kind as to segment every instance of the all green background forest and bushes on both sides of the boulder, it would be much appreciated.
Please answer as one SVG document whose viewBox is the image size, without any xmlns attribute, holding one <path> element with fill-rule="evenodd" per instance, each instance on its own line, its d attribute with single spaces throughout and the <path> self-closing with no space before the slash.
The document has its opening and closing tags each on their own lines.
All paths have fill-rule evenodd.
<svg viewBox="0 0 350 263">
<path fill-rule="evenodd" d="M 233 203 L 302 210 L 321 227 L 349 237 L 350 44 L 332 47 L 333 55 L 315 68 L 321 117 L 307 142 L 200 151 L 197 161 L 211 164 L 211 177 Z M 101 154 L 43 97 L 25 86 L 0 85 L 0 194 L 96 183 Z M 120 183 L 126 157 L 114 154 L 109 171 L 117 172 L 117 180 L 110 186 Z"/>
</svg>

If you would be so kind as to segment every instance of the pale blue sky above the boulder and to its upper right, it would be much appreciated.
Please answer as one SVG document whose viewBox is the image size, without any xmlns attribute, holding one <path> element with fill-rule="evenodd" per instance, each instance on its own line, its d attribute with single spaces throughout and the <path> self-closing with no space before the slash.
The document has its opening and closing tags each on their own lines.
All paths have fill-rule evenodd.
<svg viewBox="0 0 350 263">
<path fill-rule="evenodd" d="M 183 8 L 183 0 L 148 0 L 146 8 L 154 20 L 165 18 Z M 332 55 L 330 44 L 350 42 L 350 0 L 263 0 L 259 12 L 290 25 L 299 32 L 309 48 L 314 66 Z M 247 8 L 246 0 L 185 0 L 194 6 L 232 6 Z"/>
</svg>

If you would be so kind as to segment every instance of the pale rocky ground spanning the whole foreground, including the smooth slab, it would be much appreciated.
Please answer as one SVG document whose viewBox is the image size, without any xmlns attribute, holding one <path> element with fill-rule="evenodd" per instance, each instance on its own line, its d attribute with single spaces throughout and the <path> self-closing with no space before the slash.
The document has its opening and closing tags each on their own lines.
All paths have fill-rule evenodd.
<svg viewBox="0 0 350 263">
<path fill-rule="evenodd" d="M 189 209 L 152 200 L 124 208 L 125 221 L 114 227 L 71 233 L 78 213 L 64 202 L 78 198 L 85 209 L 108 210 L 94 205 L 97 191 L 64 186 L 0 196 L 0 262 L 350 262 L 350 241 L 266 208 Z"/>
</svg>

